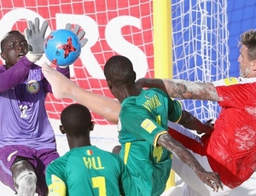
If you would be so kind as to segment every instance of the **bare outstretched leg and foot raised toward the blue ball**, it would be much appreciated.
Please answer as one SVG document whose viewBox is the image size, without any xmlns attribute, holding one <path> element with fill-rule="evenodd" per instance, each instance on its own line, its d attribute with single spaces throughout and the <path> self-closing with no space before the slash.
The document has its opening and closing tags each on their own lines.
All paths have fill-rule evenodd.
<svg viewBox="0 0 256 196">
<path fill-rule="evenodd" d="M 60 72 L 51 68 L 46 62 L 42 65 L 42 72 L 51 85 L 53 95 L 55 95 L 56 99 L 69 98 L 73 101 L 77 101 L 85 107 L 88 107 L 90 111 L 101 115 L 109 122 L 118 124 L 119 111 L 121 108 L 119 101 L 82 89 Z"/>
</svg>

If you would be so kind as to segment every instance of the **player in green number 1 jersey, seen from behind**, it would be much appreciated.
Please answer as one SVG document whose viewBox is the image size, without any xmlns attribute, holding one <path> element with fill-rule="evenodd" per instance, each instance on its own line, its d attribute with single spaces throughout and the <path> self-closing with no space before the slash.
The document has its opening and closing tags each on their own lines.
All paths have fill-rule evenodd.
<svg viewBox="0 0 256 196">
<path fill-rule="evenodd" d="M 90 145 L 94 124 L 87 107 L 66 107 L 61 112 L 61 124 L 70 151 L 46 169 L 49 196 L 143 195 L 119 155 Z"/>
</svg>

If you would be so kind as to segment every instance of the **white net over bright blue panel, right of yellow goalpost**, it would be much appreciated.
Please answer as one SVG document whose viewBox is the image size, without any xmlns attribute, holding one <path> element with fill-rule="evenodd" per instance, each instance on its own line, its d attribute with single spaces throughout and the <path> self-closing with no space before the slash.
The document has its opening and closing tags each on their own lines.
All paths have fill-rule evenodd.
<svg viewBox="0 0 256 196">
<path fill-rule="evenodd" d="M 227 0 L 172 0 L 173 78 L 212 82 L 229 77 Z M 183 101 L 201 120 L 215 119 L 212 101 Z"/>
</svg>

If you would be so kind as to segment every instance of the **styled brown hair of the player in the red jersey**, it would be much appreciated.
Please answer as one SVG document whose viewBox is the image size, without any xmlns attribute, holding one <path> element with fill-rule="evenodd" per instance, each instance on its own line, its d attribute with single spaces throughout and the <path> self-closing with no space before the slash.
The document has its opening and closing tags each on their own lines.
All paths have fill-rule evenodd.
<svg viewBox="0 0 256 196">
<path fill-rule="evenodd" d="M 248 49 L 248 59 L 253 61 L 256 59 L 256 31 L 251 29 L 241 34 L 239 45 L 244 45 Z"/>
</svg>

